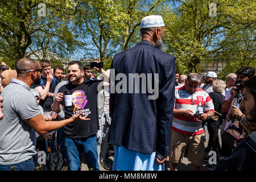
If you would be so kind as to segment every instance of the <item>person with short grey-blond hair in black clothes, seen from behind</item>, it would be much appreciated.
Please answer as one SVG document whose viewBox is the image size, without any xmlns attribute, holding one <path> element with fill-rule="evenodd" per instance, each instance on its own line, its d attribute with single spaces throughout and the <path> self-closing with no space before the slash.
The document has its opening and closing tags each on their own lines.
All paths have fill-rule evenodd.
<svg viewBox="0 0 256 182">
<path fill-rule="evenodd" d="M 226 84 L 222 80 L 216 80 L 213 82 L 212 89 L 213 92 L 209 93 L 210 98 L 213 101 L 214 105 L 214 116 L 207 121 L 207 129 L 209 133 L 209 142 L 208 146 L 205 149 L 205 152 L 209 151 L 216 151 L 217 159 L 220 156 L 220 143 L 218 139 L 218 129 L 222 124 L 222 117 L 221 117 L 221 105 L 224 101 L 223 92 L 226 87 Z M 208 169 L 213 169 L 214 166 L 207 166 Z"/>
</svg>

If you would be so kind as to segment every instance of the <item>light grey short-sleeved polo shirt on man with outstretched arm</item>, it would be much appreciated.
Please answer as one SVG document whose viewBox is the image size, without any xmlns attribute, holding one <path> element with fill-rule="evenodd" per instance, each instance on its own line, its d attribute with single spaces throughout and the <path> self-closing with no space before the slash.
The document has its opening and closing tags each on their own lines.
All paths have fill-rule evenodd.
<svg viewBox="0 0 256 182">
<path fill-rule="evenodd" d="M 24 119 L 41 111 L 29 86 L 12 78 L 1 93 L 3 119 L 0 121 L 0 164 L 11 165 L 31 159 L 36 152 L 35 131 Z"/>
</svg>

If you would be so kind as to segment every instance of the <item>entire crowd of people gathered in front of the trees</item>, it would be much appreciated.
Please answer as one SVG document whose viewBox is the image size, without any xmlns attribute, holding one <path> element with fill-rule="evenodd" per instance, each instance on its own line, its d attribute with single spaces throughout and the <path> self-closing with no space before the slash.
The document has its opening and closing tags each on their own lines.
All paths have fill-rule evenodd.
<svg viewBox="0 0 256 182">
<path fill-rule="evenodd" d="M 94 171 L 162 171 L 167 157 L 175 171 L 185 154 L 199 171 L 213 151 L 210 170 L 255 171 L 254 68 L 241 67 L 226 80 L 214 72 L 179 75 L 175 57 L 162 51 L 164 31 L 161 16 L 144 17 L 142 41 L 115 55 L 107 71 L 80 61 L 68 64 L 67 75 L 49 60 L 23 58 L 15 70 L 1 64 L 0 171 L 40 168 L 38 152 L 57 148 L 71 171 L 81 169 L 82 158 Z M 119 73 L 129 79 L 113 78 Z M 142 73 L 147 89 L 135 80 Z M 158 86 L 157 97 L 149 99 L 148 83 Z M 229 133 L 234 127 L 238 135 Z"/>
</svg>

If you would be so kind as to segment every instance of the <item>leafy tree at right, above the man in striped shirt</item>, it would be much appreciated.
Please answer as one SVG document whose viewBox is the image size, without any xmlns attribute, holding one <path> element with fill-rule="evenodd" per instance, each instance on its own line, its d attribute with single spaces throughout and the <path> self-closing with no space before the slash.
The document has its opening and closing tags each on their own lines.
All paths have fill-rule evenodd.
<svg viewBox="0 0 256 182">
<path fill-rule="evenodd" d="M 222 40 L 255 26 L 255 2 L 252 1 L 172 2 L 174 8 L 170 7 L 165 17 L 166 51 L 175 55 L 177 69 L 183 73 L 199 72 L 201 60 L 232 46 L 232 42 Z M 209 15 L 211 2 L 216 3 L 216 16 Z"/>
</svg>

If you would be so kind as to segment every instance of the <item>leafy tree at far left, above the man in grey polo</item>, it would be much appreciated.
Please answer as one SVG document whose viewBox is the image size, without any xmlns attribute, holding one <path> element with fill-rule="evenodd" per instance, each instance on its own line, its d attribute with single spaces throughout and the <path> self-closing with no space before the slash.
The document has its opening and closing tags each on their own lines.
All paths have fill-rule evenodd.
<svg viewBox="0 0 256 182">
<path fill-rule="evenodd" d="M 39 0 L 10 0 L 0 2 L 0 56 L 11 67 L 31 53 L 42 50 L 46 55 L 49 47 L 67 45 L 72 49 L 72 32 L 68 30 L 64 11 L 72 10 L 70 1 L 44 1 L 46 16 L 39 16 Z M 43 9 L 44 10 L 44 9 Z"/>
</svg>

